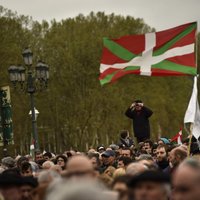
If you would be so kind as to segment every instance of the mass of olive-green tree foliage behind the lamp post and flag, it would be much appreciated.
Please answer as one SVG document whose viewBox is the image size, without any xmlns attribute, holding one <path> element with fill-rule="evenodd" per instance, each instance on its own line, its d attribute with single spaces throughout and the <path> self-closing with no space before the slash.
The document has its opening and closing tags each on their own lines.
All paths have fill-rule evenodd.
<svg viewBox="0 0 200 200">
<path fill-rule="evenodd" d="M 2 7 L 0 16 L 1 85 L 9 84 L 8 66 L 23 63 L 21 52 L 26 46 L 34 52 L 34 65 L 42 59 L 50 67 L 48 90 L 36 94 L 42 149 L 84 150 L 117 142 L 121 129 L 132 132 L 132 122 L 124 112 L 134 99 L 142 99 L 154 111 L 152 138 L 158 134 L 171 137 L 179 130 L 192 91 L 191 77 L 127 75 L 100 86 L 102 38 L 153 31 L 142 19 L 91 12 L 40 24 Z M 14 90 L 11 95 L 15 146 L 25 153 L 31 142 L 30 100 Z"/>
</svg>

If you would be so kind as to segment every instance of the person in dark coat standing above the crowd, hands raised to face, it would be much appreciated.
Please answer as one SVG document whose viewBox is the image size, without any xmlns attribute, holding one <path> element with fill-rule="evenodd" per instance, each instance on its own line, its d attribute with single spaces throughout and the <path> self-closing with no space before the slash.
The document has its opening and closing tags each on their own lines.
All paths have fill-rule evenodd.
<svg viewBox="0 0 200 200">
<path fill-rule="evenodd" d="M 152 114 L 152 110 L 145 107 L 141 100 L 134 101 L 125 112 L 133 120 L 134 135 L 138 143 L 150 138 L 149 117 Z"/>
</svg>

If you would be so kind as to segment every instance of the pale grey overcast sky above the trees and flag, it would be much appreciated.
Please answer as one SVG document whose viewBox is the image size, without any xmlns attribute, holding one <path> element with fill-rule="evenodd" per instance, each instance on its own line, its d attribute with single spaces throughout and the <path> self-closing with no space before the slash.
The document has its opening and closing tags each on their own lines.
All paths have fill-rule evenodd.
<svg viewBox="0 0 200 200">
<path fill-rule="evenodd" d="M 104 11 L 143 18 L 157 31 L 192 21 L 200 23 L 200 0 L 0 0 L 0 5 L 39 22 Z"/>
</svg>

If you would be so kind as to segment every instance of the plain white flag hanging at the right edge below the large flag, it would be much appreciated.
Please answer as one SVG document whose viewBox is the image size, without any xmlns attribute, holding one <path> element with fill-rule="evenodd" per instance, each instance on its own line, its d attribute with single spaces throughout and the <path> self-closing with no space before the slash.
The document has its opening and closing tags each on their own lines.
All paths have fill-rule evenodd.
<svg viewBox="0 0 200 200">
<path fill-rule="evenodd" d="M 184 123 L 193 123 L 192 135 L 196 139 L 200 136 L 200 110 L 198 103 L 197 77 L 194 77 L 192 96 L 185 113 Z"/>
</svg>

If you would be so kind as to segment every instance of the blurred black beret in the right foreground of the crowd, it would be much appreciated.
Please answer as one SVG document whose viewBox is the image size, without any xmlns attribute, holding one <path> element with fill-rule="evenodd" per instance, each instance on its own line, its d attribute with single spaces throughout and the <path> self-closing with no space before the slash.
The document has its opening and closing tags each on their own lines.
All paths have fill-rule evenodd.
<svg viewBox="0 0 200 200">
<path fill-rule="evenodd" d="M 150 181 L 155 183 L 170 183 L 170 176 L 166 173 L 163 173 L 161 171 L 145 171 L 135 177 L 133 177 L 129 183 L 129 187 L 134 187 L 137 185 L 137 183 Z"/>
</svg>

